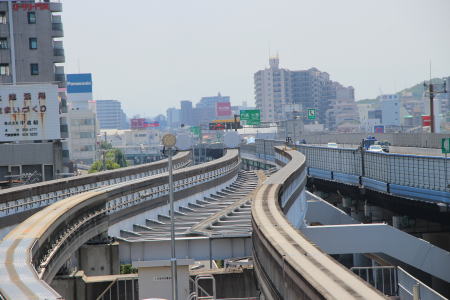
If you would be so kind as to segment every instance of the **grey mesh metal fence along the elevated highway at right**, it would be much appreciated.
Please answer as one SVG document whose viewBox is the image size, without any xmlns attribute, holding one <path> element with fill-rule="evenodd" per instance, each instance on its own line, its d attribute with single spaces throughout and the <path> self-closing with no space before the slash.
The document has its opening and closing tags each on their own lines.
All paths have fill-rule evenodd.
<svg viewBox="0 0 450 300">
<path fill-rule="evenodd" d="M 298 146 L 307 166 L 363 176 L 384 183 L 433 191 L 450 191 L 450 158 L 375 153 L 357 149 Z"/>
</svg>

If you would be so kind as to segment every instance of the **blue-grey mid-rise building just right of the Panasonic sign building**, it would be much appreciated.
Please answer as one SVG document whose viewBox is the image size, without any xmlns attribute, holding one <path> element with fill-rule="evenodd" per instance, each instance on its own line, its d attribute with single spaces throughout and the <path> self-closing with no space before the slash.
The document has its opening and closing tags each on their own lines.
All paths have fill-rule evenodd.
<svg viewBox="0 0 450 300">
<path fill-rule="evenodd" d="M 126 129 L 126 115 L 118 100 L 96 100 L 97 120 L 100 129 Z"/>
</svg>

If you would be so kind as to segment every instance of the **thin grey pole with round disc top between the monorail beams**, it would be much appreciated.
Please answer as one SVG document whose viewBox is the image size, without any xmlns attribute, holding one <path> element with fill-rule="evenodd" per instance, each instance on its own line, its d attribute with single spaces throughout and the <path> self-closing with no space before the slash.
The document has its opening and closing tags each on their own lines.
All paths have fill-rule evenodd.
<svg viewBox="0 0 450 300">
<path fill-rule="evenodd" d="M 177 138 L 175 135 L 167 133 L 162 137 L 162 143 L 169 152 L 169 201 L 170 201 L 170 250 L 172 257 L 170 259 L 170 265 L 172 267 L 172 299 L 178 300 L 177 289 L 177 258 L 175 255 L 175 219 L 173 208 L 173 177 L 172 177 L 172 148 L 175 146 Z"/>
</svg>

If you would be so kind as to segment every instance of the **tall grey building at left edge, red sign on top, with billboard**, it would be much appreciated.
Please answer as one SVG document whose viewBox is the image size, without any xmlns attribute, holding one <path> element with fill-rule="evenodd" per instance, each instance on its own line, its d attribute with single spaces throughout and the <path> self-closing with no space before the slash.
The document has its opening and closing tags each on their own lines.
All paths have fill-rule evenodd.
<svg viewBox="0 0 450 300">
<path fill-rule="evenodd" d="M 8 138 L 0 138 L 0 180 L 5 172 L 49 180 L 70 170 L 61 140 L 68 137 L 61 12 L 59 1 L 0 1 L 0 90 L 9 100 L 0 105 L 11 110 L 1 115 Z"/>
</svg>

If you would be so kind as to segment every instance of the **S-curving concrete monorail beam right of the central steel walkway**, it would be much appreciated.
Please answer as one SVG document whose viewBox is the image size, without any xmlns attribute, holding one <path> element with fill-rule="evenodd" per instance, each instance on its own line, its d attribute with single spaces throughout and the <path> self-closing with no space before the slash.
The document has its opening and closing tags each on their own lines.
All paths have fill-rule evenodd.
<svg viewBox="0 0 450 300">
<path fill-rule="evenodd" d="M 265 299 L 384 299 L 296 229 L 303 225 L 297 215 L 305 213 L 305 156 L 283 147 L 275 152 L 283 167 L 252 205 L 254 266 Z"/>
</svg>

